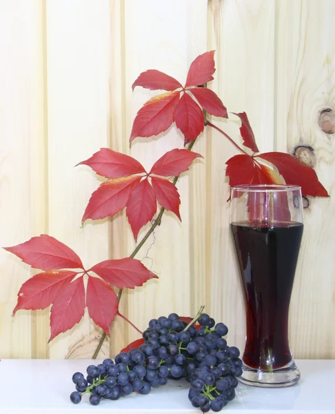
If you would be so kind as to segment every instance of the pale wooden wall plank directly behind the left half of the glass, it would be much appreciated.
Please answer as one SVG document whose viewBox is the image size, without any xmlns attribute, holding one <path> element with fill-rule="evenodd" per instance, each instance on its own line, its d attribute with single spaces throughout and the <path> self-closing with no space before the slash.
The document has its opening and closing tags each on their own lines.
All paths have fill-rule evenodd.
<svg viewBox="0 0 335 414">
<path fill-rule="evenodd" d="M 212 88 L 230 112 L 247 112 L 261 152 L 273 149 L 274 131 L 274 1 L 209 2 L 209 49 L 216 50 Z M 217 121 L 239 144 L 239 121 Z M 245 314 L 236 257 L 229 227 L 229 186 L 225 161 L 236 149 L 218 132 L 211 138 L 211 190 L 207 193 L 207 280 L 210 314 L 230 328 L 228 343 L 244 348 Z"/>
</svg>

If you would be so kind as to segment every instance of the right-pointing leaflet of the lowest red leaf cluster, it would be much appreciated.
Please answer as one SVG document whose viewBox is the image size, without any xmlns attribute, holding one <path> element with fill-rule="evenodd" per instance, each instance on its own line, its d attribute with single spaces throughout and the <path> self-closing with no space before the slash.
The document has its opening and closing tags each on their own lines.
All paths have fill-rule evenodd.
<svg viewBox="0 0 335 414">
<path fill-rule="evenodd" d="M 104 260 L 88 271 L 97 273 L 105 282 L 119 289 L 133 289 L 135 286 L 143 286 L 149 279 L 158 279 L 139 260 L 130 257 Z"/>
</svg>

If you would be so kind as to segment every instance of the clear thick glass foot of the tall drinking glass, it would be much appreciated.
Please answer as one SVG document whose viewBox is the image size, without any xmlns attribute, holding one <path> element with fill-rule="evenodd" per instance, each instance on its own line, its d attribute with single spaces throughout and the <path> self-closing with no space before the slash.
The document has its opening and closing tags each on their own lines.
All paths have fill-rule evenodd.
<svg viewBox="0 0 335 414">
<path fill-rule="evenodd" d="M 273 371 L 254 369 L 244 364 L 242 369 L 243 374 L 238 377 L 238 380 L 247 385 L 280 388 L 294 385 L 300 379 L 300 371 L 296 368 L 294 361 Z"/>
</svg>

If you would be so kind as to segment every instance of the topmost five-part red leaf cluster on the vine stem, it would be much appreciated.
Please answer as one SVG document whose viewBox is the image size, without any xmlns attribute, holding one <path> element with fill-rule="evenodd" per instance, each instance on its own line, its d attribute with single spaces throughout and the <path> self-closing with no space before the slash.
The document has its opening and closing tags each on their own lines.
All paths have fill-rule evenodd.
<svg viewBox="0 0 335 414">
<path fill-rule="evenodd" d="M 173 122 L 185 137 L 185 144 L 194 141 L 203 132 L 203 110 L 216 117 L 227 118 L 227 109 L 221 99 L 202 86 L 213 80 L 214 51 L 196 57 L 187 73 L 185 86 L 159 70 L 147 70 L 134 81 L 135 86 L 150 90 L 167 90 L 145 102 L 137 112 L 130 141 L 136 137 L 152 137 L 170 128 Z"/>
</svg>

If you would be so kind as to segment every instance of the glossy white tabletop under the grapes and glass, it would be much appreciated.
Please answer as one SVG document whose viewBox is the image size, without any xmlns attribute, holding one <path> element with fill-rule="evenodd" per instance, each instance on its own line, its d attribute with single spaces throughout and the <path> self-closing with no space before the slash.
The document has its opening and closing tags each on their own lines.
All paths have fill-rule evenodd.
<svg viewBox="0 0 335 414">
<path fill-rule="evenodd" d="M 89 359 L 2 359 L 0 414 L 201 414 L 187 398 L 189 384 L 169 381 L 149 395 L 132 394 L 120 400 L 75 405 L 72 374 L 85 373 L 97 361 Z M 236 397 L 221 413 L 335 414 L 335 360 L 298 360 L 301 380 L 288 388 L 258 388 L 238 384 Z"/>
</svg>

